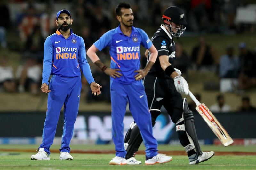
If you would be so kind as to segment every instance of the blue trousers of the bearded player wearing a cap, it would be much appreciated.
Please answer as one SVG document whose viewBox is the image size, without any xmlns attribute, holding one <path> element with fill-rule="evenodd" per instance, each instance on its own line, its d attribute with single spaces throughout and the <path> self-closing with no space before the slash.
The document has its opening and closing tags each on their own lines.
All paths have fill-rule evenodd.
<svg viewBox="0 0 256 170">
<path fill-rule="evenodd" d="M 50 80 L 46 118 L 43 129 L 43 140 L 39 148 L 50 154 L 50 147 L 56 133 L 61 108 L 64 104 L 64 126 L 60 151 L 70 152 L 70 141 L 76 121 L 80 92 L 81 77 L 61 77 L 53 75 Z"/>
</svg>

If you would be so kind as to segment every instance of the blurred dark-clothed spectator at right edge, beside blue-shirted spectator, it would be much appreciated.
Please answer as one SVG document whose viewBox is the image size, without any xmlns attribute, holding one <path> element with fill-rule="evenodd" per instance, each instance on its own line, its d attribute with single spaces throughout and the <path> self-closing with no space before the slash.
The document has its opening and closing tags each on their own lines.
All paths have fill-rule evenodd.
<svg viewBox="0 0 256 170">
<path fill-rule="evenodd" d="M 239 88 L 247 90 L 256 87 L 256 56 L 247 49 L 246 44 L 239 44 L 241 73 L 239 75 Z"/>
</svg>

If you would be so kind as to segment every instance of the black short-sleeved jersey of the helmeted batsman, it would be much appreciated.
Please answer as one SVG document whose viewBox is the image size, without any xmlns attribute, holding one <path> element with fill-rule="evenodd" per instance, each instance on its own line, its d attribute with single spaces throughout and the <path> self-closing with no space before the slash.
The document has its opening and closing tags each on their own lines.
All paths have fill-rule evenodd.
<svg viewBox="0 0 256 170">
<path fill-rule="evenodd" d="M 156 62 L 152 66 L 149 71 L 149 75 L 162 77 L 162 78 L 170 78 L 170 75 L 167 75 L 164 70 L 161 68 L 159 56 L 161 55 L 168 55 L 169 63 L 173 64 L 175 59 L 175 43 L 171 34 L 166 30 L 166 28 L 161 25 L 161 27 L 154 33 L 153 37 L 151 38 L 153 45 L 156 47 L 158 52 Z M 148 54 L 148 59 L 149 59 Z"/>
</svg>

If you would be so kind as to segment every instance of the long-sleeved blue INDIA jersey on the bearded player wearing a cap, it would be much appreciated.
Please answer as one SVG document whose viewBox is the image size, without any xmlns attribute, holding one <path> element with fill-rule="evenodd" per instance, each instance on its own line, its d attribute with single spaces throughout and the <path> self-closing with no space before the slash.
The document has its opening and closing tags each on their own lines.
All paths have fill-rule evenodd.
<svg viewBox="0 0 256 170">
<path fill-rule="evenodd" d="M 62 77 L 81 76 L 80 68 L 88 83 L 91 84 L 94 79 L 86 59 L 82 37 L 74 34 L 70 29 L 70 36 L 65 39 L 58 29 L 56 33 L 46 38 L 42 83 L 49 84 L 50 74 Z"/>
</svg>

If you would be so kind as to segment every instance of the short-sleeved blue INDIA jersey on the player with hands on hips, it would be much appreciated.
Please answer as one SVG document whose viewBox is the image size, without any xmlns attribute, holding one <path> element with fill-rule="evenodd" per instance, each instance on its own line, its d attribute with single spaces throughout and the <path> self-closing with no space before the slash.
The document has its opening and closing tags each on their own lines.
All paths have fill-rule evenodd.
<svg viewBox="0 0 256 170">
<path fill-rule="evenodd" d="M 98 41 L 94 43 L 98 50 L 109 46 L 111 56 L 111 69 L 120 69 L 122 76 L 120 78 L 111 77 L 111 80 L 123 84 L 129 84 L 135 81 L 134 71 L 140 69 L 140 45 L 146 49 L 152 46 L 152 42 L 144 30 L 132 26 L 132 33 L 128 37 L 120 29 L 120 25 L 106 32 Z"/>
</svg>

